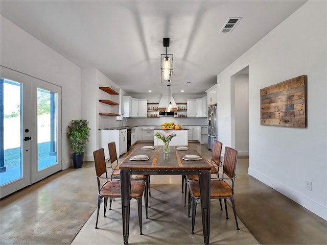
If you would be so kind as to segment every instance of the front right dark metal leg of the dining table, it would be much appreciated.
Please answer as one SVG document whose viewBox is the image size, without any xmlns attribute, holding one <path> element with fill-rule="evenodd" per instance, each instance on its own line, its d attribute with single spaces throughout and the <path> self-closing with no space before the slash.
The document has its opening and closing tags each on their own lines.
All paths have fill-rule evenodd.
<svg viewBox="0 0 327 245">
<path fill-rule="evenodd" d="M 199 187 L 204 244 L 209 244 L 210 236 L 210 177 L 210 170 L 199 171 Z"/>
</svg>

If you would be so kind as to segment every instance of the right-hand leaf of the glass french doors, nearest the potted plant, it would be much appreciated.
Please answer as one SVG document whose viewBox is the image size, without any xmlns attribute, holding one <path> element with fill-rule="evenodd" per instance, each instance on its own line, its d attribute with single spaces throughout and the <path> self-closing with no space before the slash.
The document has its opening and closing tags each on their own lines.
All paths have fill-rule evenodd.
<svg viewBox="0 0 327 245">
<path fill-rule="evenodd" d="M 31 183 L 61 170 L 61 88 L 31 78 Z M 61 131 L 60 131 L 61 132 Z M 35 154 L 34 154 L 35 153 Z"/>
</svg>

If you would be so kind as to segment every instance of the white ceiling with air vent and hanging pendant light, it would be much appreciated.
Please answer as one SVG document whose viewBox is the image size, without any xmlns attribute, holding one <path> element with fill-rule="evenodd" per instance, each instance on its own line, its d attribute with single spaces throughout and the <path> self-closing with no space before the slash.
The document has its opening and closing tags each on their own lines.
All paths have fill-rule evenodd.
<svg viewBox="0 0 327 245">
<path fill-rule="evenodd" d="M 162 38 L 174 55 L 172 93 L 203 94 L 217 75 L 306 1 L 3 1 L 1 15 L 129 94 L 167 94 Z M 228 17 L 242 17 L 220 33 Z M 186 84 L 190 82 L 190 84 Z"/>
</svg>

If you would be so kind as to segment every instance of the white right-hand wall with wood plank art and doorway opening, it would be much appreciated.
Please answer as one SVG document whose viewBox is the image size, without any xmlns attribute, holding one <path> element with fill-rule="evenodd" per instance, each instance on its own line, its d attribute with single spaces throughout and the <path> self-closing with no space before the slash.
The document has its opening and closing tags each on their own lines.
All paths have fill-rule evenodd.
<svg viewBox="0 0 327 245">
<path fill-rule="evenodd" d="M 327 2 L 309 1 L 218 77 L 218 139 L 230 145 L 233 74 L 249 66 L 249 174 L 327 218 Z M 261 126 L 260 89 L 307 75 L 307 128 Z M 312 182 L 312 191 L 306 189 Z M 237 184 L 237 182 L 236 182 Z"/>
</svg>

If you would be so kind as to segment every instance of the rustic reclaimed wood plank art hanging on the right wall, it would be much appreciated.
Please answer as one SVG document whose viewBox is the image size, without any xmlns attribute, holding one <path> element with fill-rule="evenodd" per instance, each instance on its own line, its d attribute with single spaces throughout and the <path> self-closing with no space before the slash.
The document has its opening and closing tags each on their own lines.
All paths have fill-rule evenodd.
<svg viewBox="0 0 327 245">
<path fill-rule="evenodd" d="M 261 125 L 305 128 L 306 83 L 302 75 L 260 89 Z"/>
</svg>

